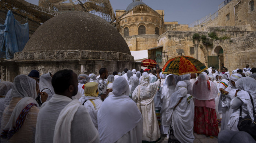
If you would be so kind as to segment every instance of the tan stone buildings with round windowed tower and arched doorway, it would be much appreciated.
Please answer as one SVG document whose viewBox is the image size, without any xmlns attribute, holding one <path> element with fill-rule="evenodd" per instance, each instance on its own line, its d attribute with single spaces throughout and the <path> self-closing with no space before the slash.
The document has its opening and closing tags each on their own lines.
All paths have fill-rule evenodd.
<svg viewBox="0 0 256 143">
<path fill-rule="evenodd" d="M 116 10 L 116 28 L 131 51 L 148 50 L 148 58 L 162 67 L 170 58 L 187 55 L 208 67 L 219 69 L 224 63 L 232 71 L 246 64 L 256 67 L 254 5 L 253 0 L 225 0 L 216 13 L 189 27 L 165 22 L 163 10 L 133 0 L 127 9 Z M 208 37 L 212 33 L 218 40 Z M 205 39 L 194 39 L 195 34 Z"/>
</svg>

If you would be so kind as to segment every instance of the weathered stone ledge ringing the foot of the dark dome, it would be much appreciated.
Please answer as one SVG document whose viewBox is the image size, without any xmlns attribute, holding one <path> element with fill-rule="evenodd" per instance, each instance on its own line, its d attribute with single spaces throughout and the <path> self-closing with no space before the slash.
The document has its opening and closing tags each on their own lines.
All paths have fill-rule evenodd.
<svg viewBox="0 0 256 143">
<path fill-rule="evenodd" d="M 88 50 L 49 50 L 27 51 L 14 54 L 14 61 L 24 60 L 77 60 L 77 59 L 108 59 L 133 61 L 133 56 L 113 51 L 88 51 Z"/>
</svg>

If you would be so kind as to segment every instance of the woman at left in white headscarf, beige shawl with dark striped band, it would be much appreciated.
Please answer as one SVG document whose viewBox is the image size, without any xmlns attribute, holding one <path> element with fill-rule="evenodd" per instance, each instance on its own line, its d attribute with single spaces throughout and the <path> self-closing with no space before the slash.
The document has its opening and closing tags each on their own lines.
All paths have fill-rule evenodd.
<svg viewBox="0 0 256 143">
<path fill-rule="evenodd" d="M 1 120 L 1 143 L 34 143 L 39 105 L 38 85 L 33 78 L 19 75 L 14 78 L 12 98 Z M 37 89 L 36 89 L 37 86 Z"/>
</svg>

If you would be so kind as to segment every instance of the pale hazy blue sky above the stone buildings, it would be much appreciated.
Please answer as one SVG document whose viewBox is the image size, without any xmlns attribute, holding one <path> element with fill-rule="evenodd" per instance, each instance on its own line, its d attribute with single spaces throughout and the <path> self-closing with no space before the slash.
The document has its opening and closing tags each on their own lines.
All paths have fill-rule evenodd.
<svg viewBox="0 0 256 143">
<path fill-rule="evenodd" d="M 26 0 L 38 5 L 38 0 Z M 75 0 L 73 0 L 75 1 Z M 178 22 L 178 24 L 191 24 L 210 13 L 218 11 L 218 6 L 224 0 L 143 0 L 145 4 L 154 10 L 163 9 L 165 22 Z M 116 9 L 126 9 L 132 0 L 110 0 Z"/>
</svg>

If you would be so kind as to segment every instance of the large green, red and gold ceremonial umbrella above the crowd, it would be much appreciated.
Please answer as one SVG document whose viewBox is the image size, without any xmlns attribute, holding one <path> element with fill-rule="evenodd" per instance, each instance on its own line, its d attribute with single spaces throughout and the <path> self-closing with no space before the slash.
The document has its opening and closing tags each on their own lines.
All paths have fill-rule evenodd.
<svg viewBox="0 0 256 143">
<path fill-rule="evenodd" d="M 163 73 L 183 75 L 188 73 L 201 73 L 207 67 L 197 59 L 188 56 L 179 56 L 169 59 L 163 66 Z"/>
</svg>

